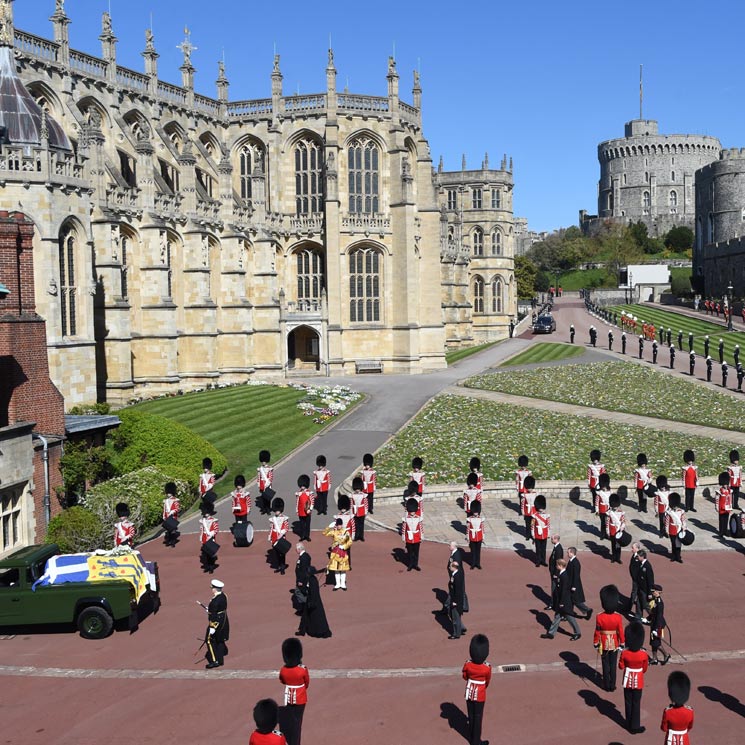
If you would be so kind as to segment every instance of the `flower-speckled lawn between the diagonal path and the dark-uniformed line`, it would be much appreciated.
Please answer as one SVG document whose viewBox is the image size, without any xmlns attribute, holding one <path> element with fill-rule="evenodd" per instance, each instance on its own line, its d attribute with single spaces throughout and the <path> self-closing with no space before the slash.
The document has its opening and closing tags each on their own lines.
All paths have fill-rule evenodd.
<svg viewBox="0 0 745 745">
<path fill-rule="evenodd" d="M 699 360 L 699 372 L 703 361 Z M 563 365 L 469 378 L 471 388 L 743 431 L 745 401 L 633 362 Z"/>
</svg>

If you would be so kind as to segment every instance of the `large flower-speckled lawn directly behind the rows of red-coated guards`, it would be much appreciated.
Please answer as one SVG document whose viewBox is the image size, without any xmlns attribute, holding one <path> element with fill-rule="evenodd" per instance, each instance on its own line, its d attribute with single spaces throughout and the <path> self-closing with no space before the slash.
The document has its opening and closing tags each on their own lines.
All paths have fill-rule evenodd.
<svg viewBox="0 0 745 745">
<path fill-rule="evenodd" d="M 677 478 L 683 451 L 693 448 L 700 473 L 710 477 L 721 471 L 733 447 L 705 437 L 443 395 L 377 453 L 375 469 L 379 486 L 403 487 L 411 458 L 418 455 L 428 483 L 460 483 L 469 459 L 477 455 L 487 480 L 511 481 L 517 458 L 525 453 L 539 481 L 581 480 L 590 450 L 599 448 L 614 481 L 632 477 L 639 452 L 647 454 L 655 474 Z"/>
</svg>

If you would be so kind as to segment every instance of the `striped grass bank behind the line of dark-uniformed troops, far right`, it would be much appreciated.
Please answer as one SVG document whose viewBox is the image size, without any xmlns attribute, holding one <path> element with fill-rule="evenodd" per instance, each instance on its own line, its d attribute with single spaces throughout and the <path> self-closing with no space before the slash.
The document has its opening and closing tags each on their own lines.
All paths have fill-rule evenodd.
<svg viewBox="0 0 745 745">
<path fill-rule="evenodd" d="M 686 354 L 688 353 L 688 332 L 691 331 L 693 332 L 693 348 L 697 355 L 704 353 L 704 336 L 708 334 L 711 342 L 709 345 L 709 354 L 716 363 L 719 362 L 719 354 L 717 352 L 719 339 L 724 339 L 724 359 L 727 360 L 728 364 L 732 365 L 733 363 L 732 351 L 735 344 L 740 345 L 743 353 L 741 361 L 745 361 L 745 334 L 741 331 L 728 332 L 724 326 L 709 323 L 704 320 L 706 316 L 703 313 L 701 314 L 701 318 L 691 318 L 681 313 L 658 309 L 656 306 L 651 305 L 617 305 L 609 308 L 609 310 L 619 315 L 624 310 L 646 323 L 653 323 L 658 329 L 660 326 L 664 326 L 665 329 L 672 329 L 672 342 L 676 347 L 678 344 L 678 331 L 682 331 L 683 350 Z M 659 336 L 657 340 L 659 341 Z M 679 362 L 680 364 L 687 365 L 688 360 L 679 357 Z M 732 370 L 732 373 L 734 374 L 734 370 Z"/>
</svg>

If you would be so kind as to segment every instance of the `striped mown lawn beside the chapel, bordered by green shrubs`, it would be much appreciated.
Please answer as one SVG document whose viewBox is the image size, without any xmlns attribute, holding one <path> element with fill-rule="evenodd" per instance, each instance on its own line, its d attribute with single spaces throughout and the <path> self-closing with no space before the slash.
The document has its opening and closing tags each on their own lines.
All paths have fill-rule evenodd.
<svg viewBox="0 0 745 745">
<path fill-rule="evenodd" d="M 243 473 L 247 480 L 256 475 L 259 450 L 269 450 L 276 463 L 326 426 L 298 409 L 306 398 L 295 388 L 236 386 L 148 401 L 136 408 L 181 422 L 225 455 L 227 478 L 215 488 L 223 496 L 232 491 L 235 474 Z M 194 453 L 195 460 L 201 457 Z"/>
</svg>

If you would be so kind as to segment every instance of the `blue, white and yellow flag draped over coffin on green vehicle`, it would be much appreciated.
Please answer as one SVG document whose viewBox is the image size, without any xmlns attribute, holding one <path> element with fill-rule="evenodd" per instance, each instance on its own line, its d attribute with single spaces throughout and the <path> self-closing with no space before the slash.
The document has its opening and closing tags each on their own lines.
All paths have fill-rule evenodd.
<svg viewBox="0 0 745 745">
<path fill-rule="evenodd" d="M 44 567 L 44 575 L 33 585 L 59 585 L 64 582 L 106 582 L 123 579 L 134 588 L 137 600 L 145 594 L 148 573 L 139 551 L 102 551 L 95 554 L 62 554 L 52 556 Z"/>
</svg>

